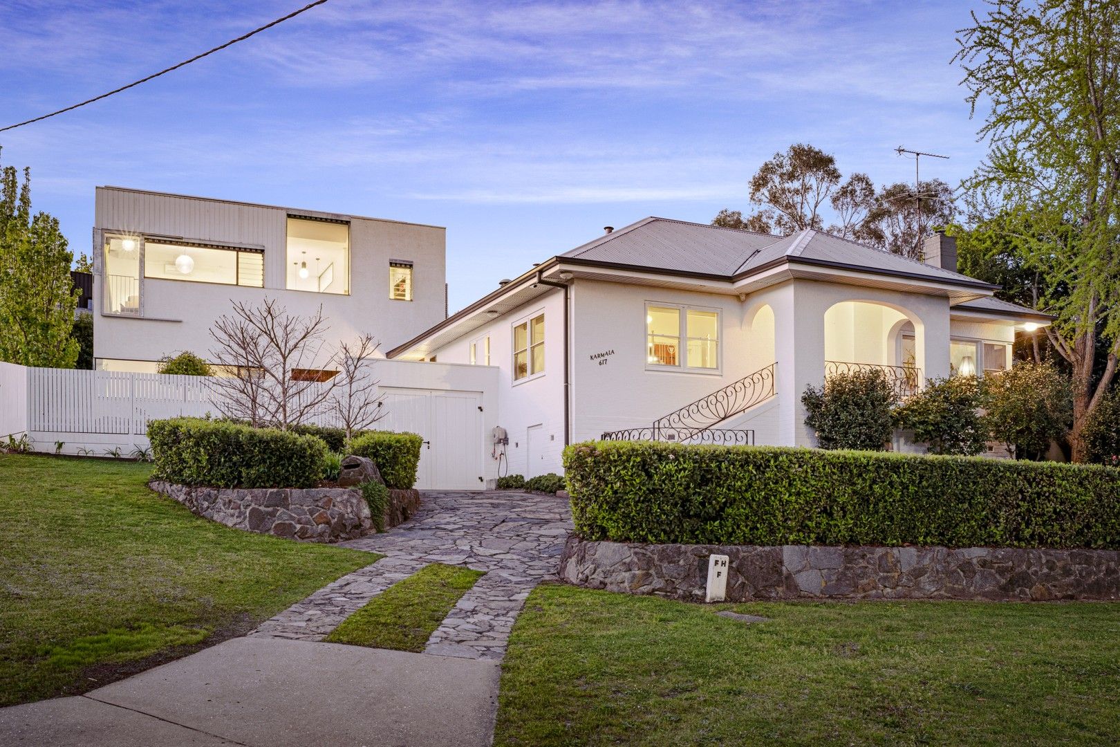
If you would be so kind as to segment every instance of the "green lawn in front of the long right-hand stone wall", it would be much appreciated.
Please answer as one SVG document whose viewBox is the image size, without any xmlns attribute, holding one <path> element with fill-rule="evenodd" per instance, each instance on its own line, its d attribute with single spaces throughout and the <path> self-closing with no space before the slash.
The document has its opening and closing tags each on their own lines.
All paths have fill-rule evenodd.
<svg viewBox="0 0 1120 747">
<path fill-rule="evenodd" d="M 744 625 L 716 609 L 771 618 Z M 1120 604 L 701 606 L 541 586 L 495 745 L 1120 741 Z"/>
</svg>

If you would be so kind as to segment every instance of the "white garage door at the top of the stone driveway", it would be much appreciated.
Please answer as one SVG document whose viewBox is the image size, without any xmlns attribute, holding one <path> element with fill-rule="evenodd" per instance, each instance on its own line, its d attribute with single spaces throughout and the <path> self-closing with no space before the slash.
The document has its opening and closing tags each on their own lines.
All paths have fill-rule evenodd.
<svg viewBox="0 0 1120 747">
<path fill-rule="evenodd" d="M 483 483 L 482 392 L 383 387 L 385 417 L 377 430 L 420 433 L 417 487 L 480 491 Z"/>
</svg>

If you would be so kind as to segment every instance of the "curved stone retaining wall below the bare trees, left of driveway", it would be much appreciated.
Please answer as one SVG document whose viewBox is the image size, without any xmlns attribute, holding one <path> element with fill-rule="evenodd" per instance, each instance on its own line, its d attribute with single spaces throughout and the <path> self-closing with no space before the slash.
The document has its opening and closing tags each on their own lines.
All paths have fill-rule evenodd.
<svg viewBox="0 0 1120 747">
<path fill-rule="evenodd" d="M 226 526 L 309 542 L 356 540 L 374 530 L 370 506 L 355 487 L 218 488 L 151 480 L 151 489 Z M 383 529 L 420 505 L 419 491 L 390 491 Z"/>
</svg>

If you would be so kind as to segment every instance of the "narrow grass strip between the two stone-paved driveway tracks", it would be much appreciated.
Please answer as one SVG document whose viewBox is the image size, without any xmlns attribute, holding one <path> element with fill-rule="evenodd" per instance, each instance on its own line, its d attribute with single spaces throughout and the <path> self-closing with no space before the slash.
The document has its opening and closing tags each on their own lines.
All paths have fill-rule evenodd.
<svg viewBox="0 0 1120 747">
<path fill-rule="evenodd" d="M 483 571 L 431 563 L 371 599 L 326 637 L 371 648 L 423 651 L 447 614 Z"/>
</svg>

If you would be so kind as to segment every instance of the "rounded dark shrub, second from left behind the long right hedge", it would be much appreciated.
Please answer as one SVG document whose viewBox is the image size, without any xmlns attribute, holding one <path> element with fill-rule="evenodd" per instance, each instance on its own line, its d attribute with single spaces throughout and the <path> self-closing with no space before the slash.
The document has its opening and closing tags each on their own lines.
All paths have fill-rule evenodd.
<svg viewBox="0 0 1120 747">
<path fill-rule="evenodd" d="M 926 387 L 895 410 L 895 424 L 914 431 L 930 454 L 972 456 L 984 449 L 988 430 L 976 376 L 930 380 Z"/>
</svg>

